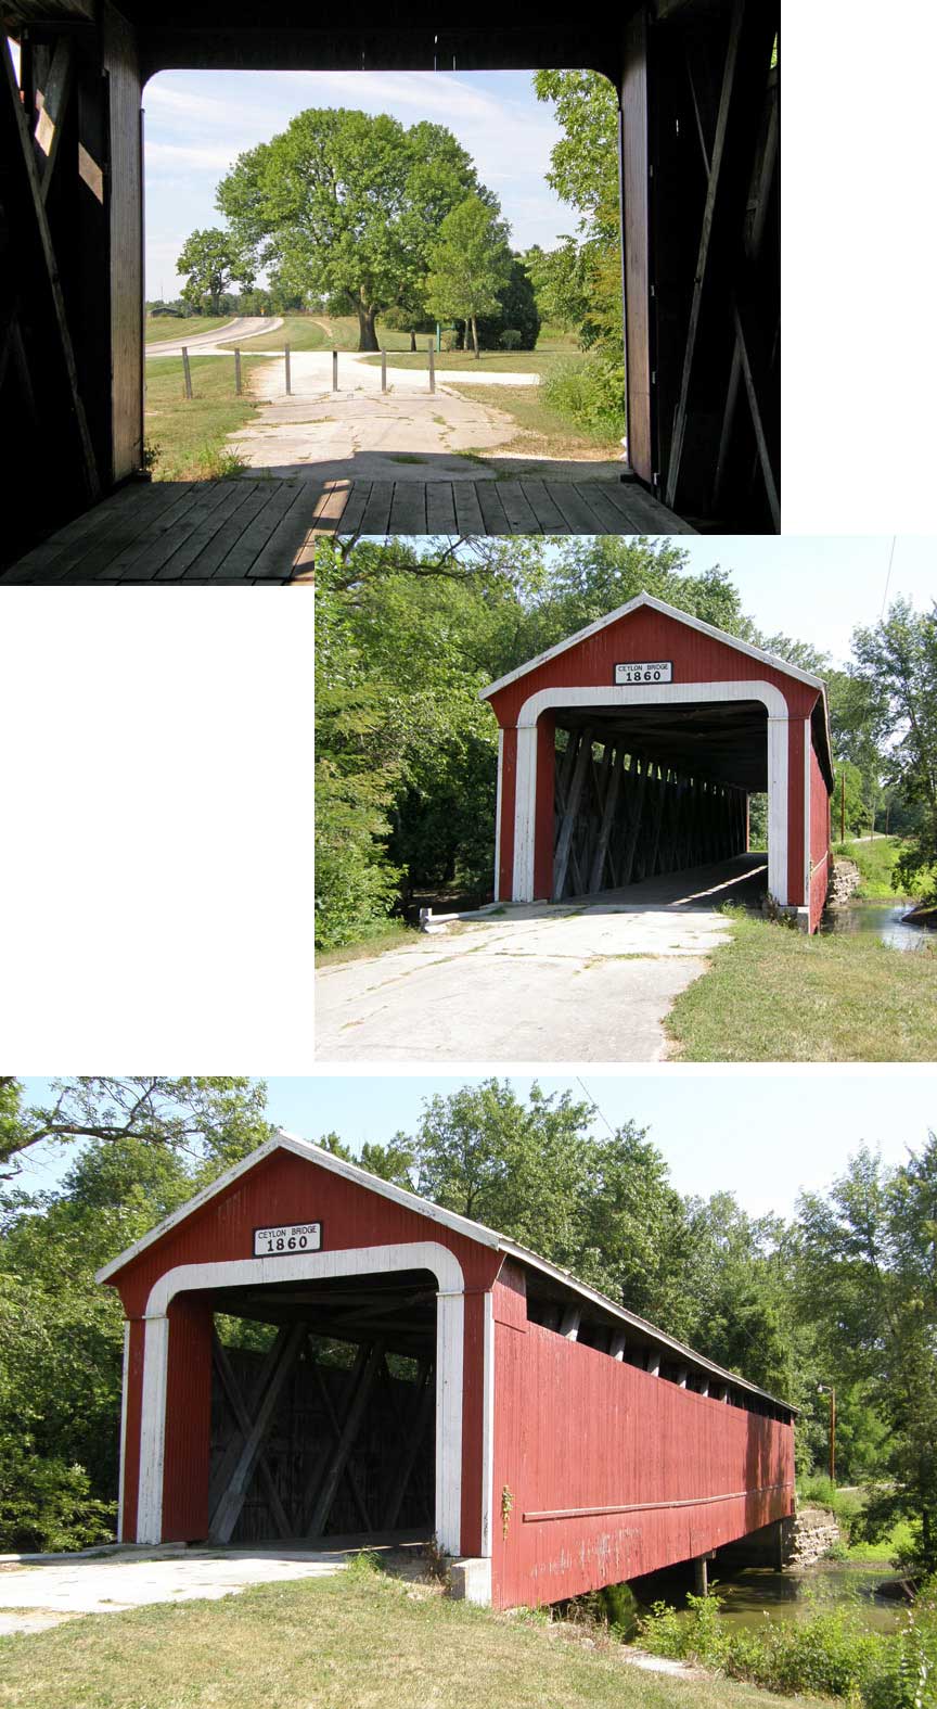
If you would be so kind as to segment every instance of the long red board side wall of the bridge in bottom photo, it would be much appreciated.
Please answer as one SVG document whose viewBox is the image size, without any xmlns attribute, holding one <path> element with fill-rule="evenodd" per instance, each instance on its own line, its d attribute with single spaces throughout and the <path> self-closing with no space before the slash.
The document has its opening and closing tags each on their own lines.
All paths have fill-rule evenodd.
<svg viewBox="0 0 937 1709">
<path fill-rule="evenodd" d="M 526 1323 L 515 1299 L 505 1311 L 505 1292 L 495 1289 L 497 1606 L 637 1577 L 792 1512 L 790 1425 Z M 635 1504 L 647 1506 L 575 1512 Z"/>
</svg>

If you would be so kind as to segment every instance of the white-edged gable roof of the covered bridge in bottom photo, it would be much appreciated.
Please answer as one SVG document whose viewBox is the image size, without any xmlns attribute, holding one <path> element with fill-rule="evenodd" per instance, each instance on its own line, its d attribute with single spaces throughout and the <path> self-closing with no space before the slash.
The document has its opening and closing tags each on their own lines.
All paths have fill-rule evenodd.
<svg viewBox="0 0 937 1709">
<path fill-rule="evenodd" d="M 133 1246 L 128 1246 L 126 1251 L 102 1265 L 96 1273 L 96 1282 L 111 1282 L 121 1270 L 126 1268 L 126 1265 L 133 1263 L 133 1260 L 145 1253 L 150 1246 L 155 1246 L 164 1234 L 169 1234 L 196 1210 L 201 1210 L 203 1205 L 208 1205 L 213 1198 L 217 1198 L 218 1193 L 224 1193 L 234 1181 L 249 1174 L 251 1169 L 256 1169 L 266 1157 L 271 1157 L 278 1150 L 292 1152 L 295 1157 L 302 1157 L 306 1162 L 314 1162 L 321 1169 L 328 1169 L 333 1174 L 341 1176 L 345 1181 L 352 1181 L 355 1186 L 364 1186 L 370 1193 L 379 1193 L 384 1198 L 393 1200 L 396 1205 L 406 1207 L 406 1210 L 415 1210 L 420 1217 L 427 1217 L 430 1222 L 439 1222 L 442 1227 L 452 1229 L 454 1234 L 461 1234 L 468 1241 L 488 1246 L 493 1251 L 517 1260 L 517 1263 L 526 1265 L 531 1270 L 538 1270 L 541 1275 L 546 1275 L 562 1287 L 579 1294 L 580 1299 L 597 1306 L 602 1313 L 618 1318 L 633 1330 L 640 1330 L 642 1335 L 650 1336 L 662 1348 L 678 1354 L 698 1371 L 707 1371 L 720 1381 L 744 1389 L 748 1395 L 758 1395 L 761 1400 L 770 1401 L 773 1407 L 782 1407 L 792 1415 L 797 1413 L 797 1408 L 789 1401 L 778 1400 L 777 1395 L 768 1395 L 766 1389 L 758 1388 L 754 1383 L 749 1383 L 748 1377 L 741 1377 L 734 1371 L 725 1371 L 724 1365 L 717 1365 L 712 1359 L 707 1359 L 703 1354 L 698 1354 L 683 1342 L 678 1342 L 672 1335 L 667 1335 L 664 1330 L 657 1330 L 655 1324 L 647 1321 L 647 1318 L 638 1318 L 637 1313 L 620 1306 L 616 1301 L 609 1299 L 608 1294 L 589 1287 L 585 1282 L 573 1277 L 572 1271 L 550 1263 L 548 1258 L 541 1258 L 527 1246 L 521 1246 L 519 1241 L 512 1241 L 509 1236 L 498 1234 L 495 1229 L 488 1229 L 483 1222 L 473 1222 L 471 1217 L 459 1217 L 454 1210 L 444 1210 L 442 1205 L 434 1205 L 432 1200 L 422 1198 L 418 1193 L 410 1193 L 406 1188 L 396 1186 L 393 1181 L 384 1181 L 382 1176 L 370 1174 L 370 1171 L 360 1169 L 358 1164 L 350 1164 L 343 1157 L 336 1157 L 333 1152 L 323 1150 L 321 1145 L 300 1140 L 294 1133 L 285 1133 L 282 1128 L 271 1140 L 259 1145 L 256 1152 L 249 1152 L 249 1155 L 242 1157 L 239 1164 L 232 1164 L 232 1167 L 225 1169 L 215 1181 L 201 1188 L 201 1193 L 196 1193 L 193 1198 L 186 1200 L 184 1205 L 179 1205 L 178 1210 L 171 1212 L 169 1217 L 164 1217 L 155 1229 L 143 1234 L 133 1242 Z"/>
</svg>

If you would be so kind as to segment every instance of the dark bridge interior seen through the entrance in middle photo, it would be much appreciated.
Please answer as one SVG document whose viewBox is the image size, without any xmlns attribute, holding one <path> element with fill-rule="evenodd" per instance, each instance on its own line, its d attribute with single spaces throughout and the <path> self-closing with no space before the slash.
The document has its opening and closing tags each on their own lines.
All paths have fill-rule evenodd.
<svg viewBox="0 0 937 1709">
<path fill-rule="evenodd" d="M 556 713 L 553 901 L 725 865 L 768 788 L 758 701 Z"/>
</svg>

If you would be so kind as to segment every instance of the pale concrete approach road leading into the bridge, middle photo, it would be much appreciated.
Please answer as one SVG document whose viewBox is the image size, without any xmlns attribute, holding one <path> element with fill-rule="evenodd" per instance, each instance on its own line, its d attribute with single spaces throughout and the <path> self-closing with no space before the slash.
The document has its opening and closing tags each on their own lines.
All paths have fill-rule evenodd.
<svg viewBox="0 0 937 1709">
<path fill-rule="evenodd" d="M 739 856 L 584 902 L 517 904 L 316 974 L 317 1061 L 662 1061 L 674 1000 L 725 943 Z"/>
</svg>

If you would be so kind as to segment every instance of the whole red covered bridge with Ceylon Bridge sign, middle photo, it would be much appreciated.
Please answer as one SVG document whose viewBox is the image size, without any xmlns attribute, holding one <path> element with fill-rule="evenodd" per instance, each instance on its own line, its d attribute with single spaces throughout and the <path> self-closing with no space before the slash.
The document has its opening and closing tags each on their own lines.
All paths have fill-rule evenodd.
<svg viewBox="0 0 937 1709">
<path fill-rule="evenodd" d="M 483 699 L 500 725 L 495 901 L 730 875 L 766 793 L 768 892 L 816 931 L 833 790 L 819 677 L 640 593 Z"/>
</svg>

